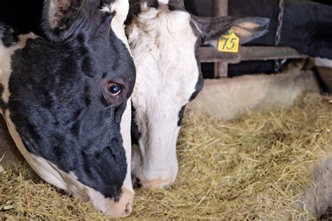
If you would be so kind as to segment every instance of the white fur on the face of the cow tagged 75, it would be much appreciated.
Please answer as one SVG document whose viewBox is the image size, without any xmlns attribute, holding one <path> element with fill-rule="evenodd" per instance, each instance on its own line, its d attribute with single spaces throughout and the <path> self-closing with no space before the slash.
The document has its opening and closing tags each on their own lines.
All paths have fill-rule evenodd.
<svg viewBox="0 0 332 221">
<path fill-rule="evenodd" d="M 165 180 L 167 186 L 178 170 L 179 111 L 198 82 L 197 36 L 189 13 L 146 6 L 141 11 L 127 27 L 137 66 L 132 103 L 141 133 L 139 149 L 133 149 L 132 172 L 142 185 L 148 180 Z"/>
</svg>

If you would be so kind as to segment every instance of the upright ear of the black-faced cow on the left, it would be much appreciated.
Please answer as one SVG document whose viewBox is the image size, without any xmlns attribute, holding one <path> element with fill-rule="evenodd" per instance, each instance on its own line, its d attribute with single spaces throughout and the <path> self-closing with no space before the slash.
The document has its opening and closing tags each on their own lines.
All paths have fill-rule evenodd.
<svg viewBox="0 0 332 221">
<path fill-rule="evenodd" d="M 83 0 L 45 0 L 43 29 L 53 41 L 64 41 L 78 29 Z"/>
</svg>

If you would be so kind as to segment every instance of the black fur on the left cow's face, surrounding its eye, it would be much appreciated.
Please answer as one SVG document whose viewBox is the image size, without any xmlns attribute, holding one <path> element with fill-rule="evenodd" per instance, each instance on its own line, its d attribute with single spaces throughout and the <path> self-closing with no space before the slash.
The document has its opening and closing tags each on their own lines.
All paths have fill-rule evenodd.
<svg viewBox="0 0 332 221">
<path fill-rule="evenodd" d="M 134 87 L 134 63 L 110 29 L 113 15 L 101 24 L 101 4 L 84 4 L 74 19 L 82 23 L 68 27 L 70 34 L 48 32 L 61 41 L 29 39 L 15 51 L 8 111 L 28 152 L 118 200 L 127 172 L 120 117 L 105 116 L 122 116 Z M 125 87 L 116 107 L 100 99 L 109 81 Z"/>
</svg>

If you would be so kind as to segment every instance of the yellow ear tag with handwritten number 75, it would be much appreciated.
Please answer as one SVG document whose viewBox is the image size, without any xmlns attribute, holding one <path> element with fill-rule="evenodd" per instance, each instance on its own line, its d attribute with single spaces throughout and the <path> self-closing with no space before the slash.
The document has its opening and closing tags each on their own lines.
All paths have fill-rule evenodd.
<svg viewBox="0 0 332 221">
<path fill-rule="evenodd" d="M 239 51 L 240 39 L 234 34 L 233 29 L 230 29 L 226 34 L 223 34 L 218 41 L 218 51 L 237 53 Z"/>
</svg>

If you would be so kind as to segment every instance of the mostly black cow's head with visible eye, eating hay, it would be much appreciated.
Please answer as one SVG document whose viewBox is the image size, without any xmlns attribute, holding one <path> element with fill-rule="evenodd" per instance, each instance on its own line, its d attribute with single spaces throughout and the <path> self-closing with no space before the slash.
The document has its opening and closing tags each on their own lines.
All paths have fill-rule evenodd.
<svg viewBox="0 0 332 221">
<path fill-rule="evenodd" d="M 129 215 L 120 134 L 135 81 L 126 0 L 49 0 L 46 38 L 0 27 L 0 105 L 43 180 L 113 217 Z"/>
</svg>

